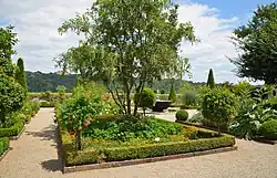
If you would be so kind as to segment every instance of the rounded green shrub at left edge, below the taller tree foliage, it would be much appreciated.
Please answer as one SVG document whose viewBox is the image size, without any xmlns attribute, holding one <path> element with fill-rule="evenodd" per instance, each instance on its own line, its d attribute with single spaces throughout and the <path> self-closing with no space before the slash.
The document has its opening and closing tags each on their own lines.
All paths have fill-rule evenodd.
<svg viewBox="0 0 277 178">
<path fill-rule="evenodd" d="M 0 122 L 4 123 L 7 114 L 19 111 L 24 100 L 22 86 L 0 72 Z"/>
</svg>

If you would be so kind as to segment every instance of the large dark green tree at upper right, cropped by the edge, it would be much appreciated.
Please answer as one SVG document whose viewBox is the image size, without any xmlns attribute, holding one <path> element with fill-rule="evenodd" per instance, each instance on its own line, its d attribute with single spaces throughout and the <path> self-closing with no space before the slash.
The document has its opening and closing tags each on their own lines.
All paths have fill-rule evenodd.
<svg viewBox="0 0 277 178">
<path fill-rule="evenodd" d="M 233 42 L 242 53 L 230 61 L 239 77 L 277 83 L 277 4 L 259 6 L 246 25 L 234 31 Z"/>
</svg>

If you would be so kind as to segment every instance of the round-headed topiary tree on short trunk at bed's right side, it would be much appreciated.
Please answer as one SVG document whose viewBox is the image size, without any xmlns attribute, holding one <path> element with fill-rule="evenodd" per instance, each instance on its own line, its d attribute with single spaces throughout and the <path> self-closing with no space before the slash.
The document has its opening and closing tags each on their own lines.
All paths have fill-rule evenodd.
<svg viewBox="0 0 277 178">
<path fill-rule="evenodd" d="M 237 98 L 227 88 L 216 87 L 211 90 L 203 100 L 203 115 L 218 126 L 230 122 L 236 115 Z"/>
</svg>

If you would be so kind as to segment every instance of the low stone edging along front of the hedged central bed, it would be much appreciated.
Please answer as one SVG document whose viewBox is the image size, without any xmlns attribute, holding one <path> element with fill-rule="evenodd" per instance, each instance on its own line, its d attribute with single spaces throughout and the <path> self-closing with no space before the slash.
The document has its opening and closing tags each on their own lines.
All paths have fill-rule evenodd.
<svg viewBox="0 0 277 178">
<path fill-rule="evenodd" d="M 233 150 L 237 150 L 236 145 L 232 146 L 232 147 L 208 149 L 208 150 L 202 150 L 202 151 L 193 151 L 193 153 L 186 153 L 186 154 L 168 155 L 168 156 L 144 158 L 144 159 L 123 160 L 123 161 L 112 161 L 112 163 L 103 163 L 103 164 L 92 164 L 92 165 L 81 165 L 81 166 L 66 167 L 65 164 L 63 163 L 62 164 L 62 166 L 63 166 L 62 171 L 63 171 L 63 174 L 69 174 L 69 172 L 84 171 L 84 170 L 94 170 L 94 169 L 113 168 L 113 167 L 122 167 L 122 166 L 134 166 L 134 165 L 165 161 L 165 160 L 172 160 L 172 159 L 189 158 L 189 157 L 195 157 L 195 156 L 220 154 L 220 153 L 233 151 Z"/>
</svg>

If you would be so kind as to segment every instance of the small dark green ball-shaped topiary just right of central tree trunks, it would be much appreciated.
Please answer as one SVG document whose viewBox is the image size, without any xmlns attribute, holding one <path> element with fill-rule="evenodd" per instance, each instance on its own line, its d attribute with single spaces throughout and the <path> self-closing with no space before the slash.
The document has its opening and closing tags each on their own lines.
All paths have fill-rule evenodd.
<svg viewBox="0 0 277 178">
<path fill-rule="evenodd" d="M 144 114 L 146 108 L 152 108 L 156 101 L 156 94 L 151 88 L 144 88 L 141 96 L 135 96 L 138 100 L 138 106 L 143 108 Z"/>
</svg>

